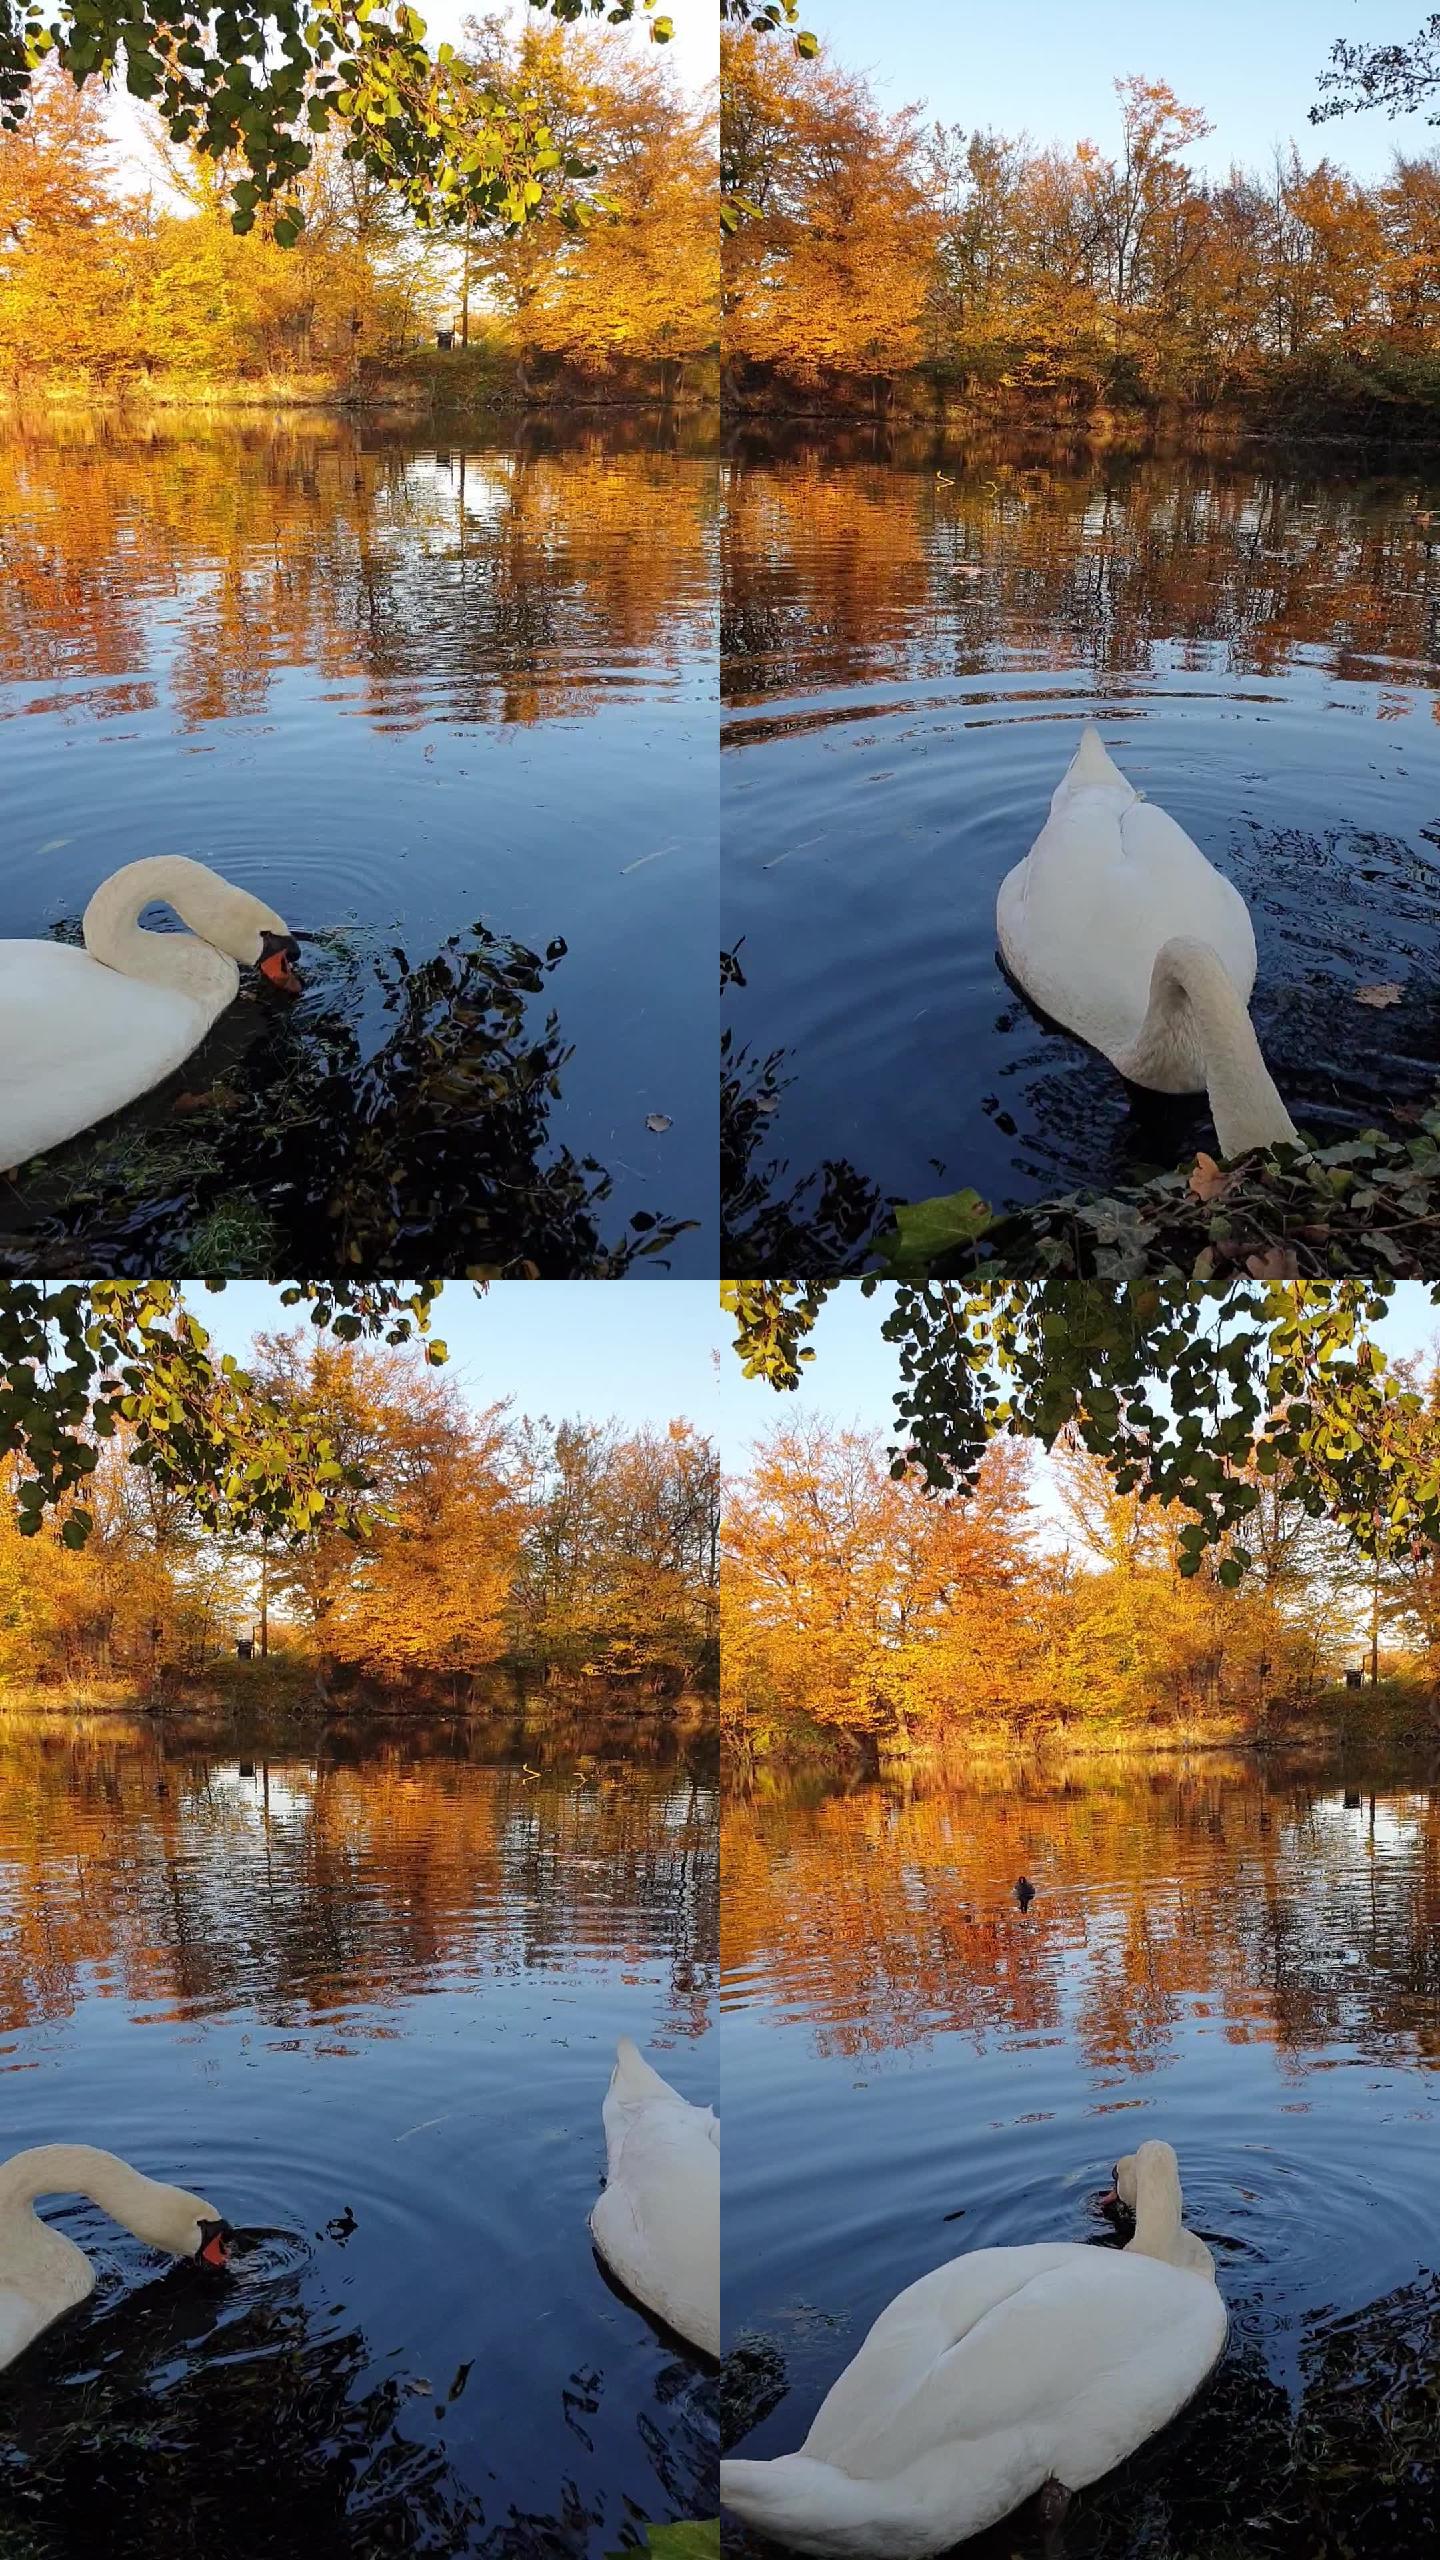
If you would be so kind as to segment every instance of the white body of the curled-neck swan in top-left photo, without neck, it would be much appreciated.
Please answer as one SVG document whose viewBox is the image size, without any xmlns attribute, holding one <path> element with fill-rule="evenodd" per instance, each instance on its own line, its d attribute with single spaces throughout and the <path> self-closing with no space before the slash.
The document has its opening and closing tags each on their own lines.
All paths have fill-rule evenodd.
<svg viewBox="0 0 1440 2560">
<path fill-rule="evenodd" d="M 205 1032 L 174 988 L 64 942 L 0 945 L 0 1165 L 59 1147 L 179 1068 Z"/>
</svg>

